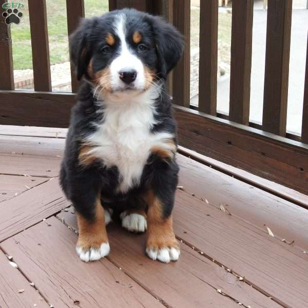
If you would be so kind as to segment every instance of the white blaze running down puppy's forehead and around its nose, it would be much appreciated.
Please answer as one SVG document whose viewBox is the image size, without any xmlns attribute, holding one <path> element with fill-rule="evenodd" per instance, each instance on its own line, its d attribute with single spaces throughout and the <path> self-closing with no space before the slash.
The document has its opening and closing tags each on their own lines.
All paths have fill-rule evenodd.
<svg viewBox="0 0 308 308">
<path fill-rule="evenodd" d="M 119 78 L 119 72 L 123 70 L 136 70 L 137 78 L 134 81 L 134 86 L 137 90 L 143 90 L 145 86 L 144 67 L 143 63 L 129 49 L 126 41 L 125 15 L 121 14 L 115 23 L 115 33 L 120 39 L 119 55 L 112 61 L 110 65 L 111 84 L 114 89 L 125 86 Z"/>
</svg>

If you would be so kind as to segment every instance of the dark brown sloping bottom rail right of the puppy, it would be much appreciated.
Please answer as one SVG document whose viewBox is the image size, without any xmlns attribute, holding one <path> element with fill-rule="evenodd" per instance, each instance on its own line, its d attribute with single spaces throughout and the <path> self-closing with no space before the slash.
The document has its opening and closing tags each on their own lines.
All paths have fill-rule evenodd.
<svg viewBox="0 0 308 308">
<path fill-rule="evenodd" d="M 308 147 L 274 134 L 175 106 L 179 144 L 308 194 Z"/>
</svg>

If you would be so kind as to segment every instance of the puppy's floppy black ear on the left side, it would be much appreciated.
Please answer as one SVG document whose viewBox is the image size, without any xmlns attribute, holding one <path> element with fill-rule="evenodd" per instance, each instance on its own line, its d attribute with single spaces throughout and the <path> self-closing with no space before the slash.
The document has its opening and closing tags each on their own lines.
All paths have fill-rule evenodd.
<svg viewBox="0 0 308 308">
<path fill-rule="evenodd" d="M 77 80 L 81 80 L 85 75 L 87 78 L 87 67 L 92 57 L 90 46 L 90 32 L 92 20 L 82 20 L 78 28 L 69 36 L 70 59 L 75 67 Z"/>
</svg>

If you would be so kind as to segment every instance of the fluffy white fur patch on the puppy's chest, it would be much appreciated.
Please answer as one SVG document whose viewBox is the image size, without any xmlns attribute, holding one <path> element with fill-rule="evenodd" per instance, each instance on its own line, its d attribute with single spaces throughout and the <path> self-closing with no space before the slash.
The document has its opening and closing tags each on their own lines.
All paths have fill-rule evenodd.
<svg viewBox="0 0 308 308">
<path fill-rule="evenodd" d="M 91 153 L 107 167 L 117 166 L 121 181 L 118 191 L 126 192 L 140 183 L 144 165 L 153 147 L 168 149 L 169 132 L 152 133 L 156 123 L 153 100 L 142 97 L 125 102 L 112 102 L 104 108 L 104 120 L 88 137 Z"/>
</svg>

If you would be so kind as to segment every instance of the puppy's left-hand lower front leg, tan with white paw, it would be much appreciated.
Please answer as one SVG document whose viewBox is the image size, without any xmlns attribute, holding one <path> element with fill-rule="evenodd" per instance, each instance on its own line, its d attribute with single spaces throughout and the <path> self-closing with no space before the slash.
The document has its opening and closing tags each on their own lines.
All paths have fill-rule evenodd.
<svg viewBox="0 0 308 308">
<path fill-rule="evenodd" d="M 104 208 L 100 197 L 97 196 L 93 204 L 88 204 L 91 217 L 85 217 L 77 210 L 77 221 L 79 227 L 79 238 L 76 252 L 80 259 L 88 262 L 99 260 L 108 255 L 110 251 L 105 225 Z"/>
</svg>

